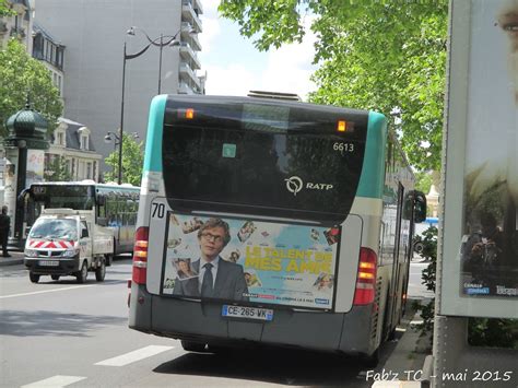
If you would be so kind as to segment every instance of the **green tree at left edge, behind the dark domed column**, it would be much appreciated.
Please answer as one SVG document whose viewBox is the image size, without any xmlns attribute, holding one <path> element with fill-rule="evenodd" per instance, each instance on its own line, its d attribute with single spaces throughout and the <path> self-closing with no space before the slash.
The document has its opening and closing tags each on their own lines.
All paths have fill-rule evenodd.
<svg viewBox="0 0 518 388">
<path fill-rule="evenodd" d="M 47 68 L 32 58 L 25 47 L 11 39 L 0 50 L 0 136 L 5 136 L 5 120 L 22 109 L 27 101 L 48 121 L 48 134 L 57 127 L 63 106 Z"/>
</svg>

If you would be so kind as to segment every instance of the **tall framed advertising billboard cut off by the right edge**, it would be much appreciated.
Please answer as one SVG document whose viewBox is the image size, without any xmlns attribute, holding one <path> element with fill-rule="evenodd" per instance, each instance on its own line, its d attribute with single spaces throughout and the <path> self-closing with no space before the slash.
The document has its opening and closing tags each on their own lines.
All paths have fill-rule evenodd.
<svg viewBox="0 0 518 388">
<path fill-rule="evenodd" d="M 440 314 L 518 318 L 518 1 L 451 11 Z"/>
</svg>

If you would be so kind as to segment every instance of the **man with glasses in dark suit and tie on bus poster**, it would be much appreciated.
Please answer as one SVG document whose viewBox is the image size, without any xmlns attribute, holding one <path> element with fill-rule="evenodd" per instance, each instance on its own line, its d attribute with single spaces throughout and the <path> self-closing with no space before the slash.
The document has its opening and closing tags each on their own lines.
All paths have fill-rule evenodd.
<svg viewBox="0 0 518 388">
<path fill-rule="evenodd" d="M 248 287 L 243 267 L 225 261 L 221 251 L 231 240 L 228 224 L 221 219 L 209 219 L 198 231 L 200 258 L 192 262 L 198 278 L 177 279 L 174 295 L 248 301 Z"/>
</svg>

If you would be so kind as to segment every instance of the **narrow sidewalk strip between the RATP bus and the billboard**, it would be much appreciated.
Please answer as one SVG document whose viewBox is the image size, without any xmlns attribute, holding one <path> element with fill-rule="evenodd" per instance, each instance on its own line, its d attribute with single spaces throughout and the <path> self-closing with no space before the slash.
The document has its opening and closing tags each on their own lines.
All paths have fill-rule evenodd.
<svg viewBox="0 0 518 388">
<path fill-rule="evenodd" d="M 413 301 L 409 299 L 409 305 Z M 426 304 L 428 301 L 420 301 Z M 400 328 L 404 328 L 404 333 L 398 341 L 396 349 L 390 354 L 381 371 L 378 372 L 373 388 L 391 387 L 421 387 L 423 378 L 423 366 L 425 358 L 431 354 L 429 336 L 420 337 L 420 331 L 413 329 L 414 325 L 422 321 L 420 311 L 401 318 Z"/>
</svg>

